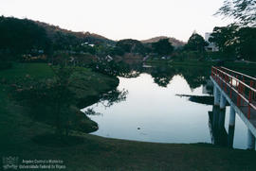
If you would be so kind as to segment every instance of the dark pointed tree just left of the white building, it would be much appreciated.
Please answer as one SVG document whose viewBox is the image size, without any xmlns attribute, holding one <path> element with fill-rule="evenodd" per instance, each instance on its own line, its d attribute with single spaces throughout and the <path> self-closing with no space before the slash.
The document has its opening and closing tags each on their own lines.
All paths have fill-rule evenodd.
<svg viewBox="0 0 256 171">
<path fill-rule="evenodd" d="M 208 43 L 205 42 L 204 38 L 201 35 L 197 33 L 192 33 L 192 36 L 190 37 L 188 43 L 185 44 L 184 49 L 201 53 L 205 51 L 206 45 L 208 45 Z"/>
</svg>

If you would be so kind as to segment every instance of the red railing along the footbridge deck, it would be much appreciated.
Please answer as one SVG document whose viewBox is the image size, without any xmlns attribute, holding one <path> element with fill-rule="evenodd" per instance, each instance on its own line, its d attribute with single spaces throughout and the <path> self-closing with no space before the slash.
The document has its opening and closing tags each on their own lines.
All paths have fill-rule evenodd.
<svg viewBox="0 0 256 171">
<path fill-rule="evenodd" d="M 247 118 L 250 118 L 251 109 L 256 111 L 256 78 L 232 71 L 225 67 L 212 67 L 211 77 L 221 89 L 236 100 L 238 107 L 247 106 Z"/>
</svg>

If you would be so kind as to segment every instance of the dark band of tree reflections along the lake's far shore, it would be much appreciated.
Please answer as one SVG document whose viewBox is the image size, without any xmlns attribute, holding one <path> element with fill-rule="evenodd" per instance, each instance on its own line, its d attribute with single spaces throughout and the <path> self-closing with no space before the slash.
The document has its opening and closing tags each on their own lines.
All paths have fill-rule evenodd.
<svg viewBox="0 0 256 171">
<path fill-rule="evenodd" d="M 183 76 L 191 89 L 200 87 L 206 83 L 210 77 L 210 67 L 195 67 L 195 66 L 171 66 L 171 65 L 156 65 L 150 68 L 142 67 L 142 62 L 119 62 L 104 63 L 108 67 L 103 67 L 103 71 L 113 70 L 115 76 L 119 77 L 138 77 L 141 73 L 148 73 L 153 78 L 155 83 L 160 87 L 167 87 L 175 75 Z"/>
</svg>

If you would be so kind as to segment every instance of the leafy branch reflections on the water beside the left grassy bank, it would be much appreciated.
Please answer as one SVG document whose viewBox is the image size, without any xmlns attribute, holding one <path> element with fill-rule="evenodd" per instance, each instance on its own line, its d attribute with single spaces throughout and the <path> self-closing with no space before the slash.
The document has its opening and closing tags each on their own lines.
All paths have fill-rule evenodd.
<svg viewBox="0 0 256 171">
<path fill-rule="evenodd" d="M 101 105 L 104 106 L 105 108 L 109 108 L 115 103 L 125 101 L 127 94 L 128 94 L 127 90 L 123 89 L 122 91 L 119 91 L 115 89 L 106 94 L 101 94 L 101 99 L 99 100 L 98 103 L 101 103 Z M 94 111 L 93 108 L 88 108 L 86 111 L 83 111 L 83 112 L 88 115 L 101 115 L 100 112 Z"/>
</svg>

